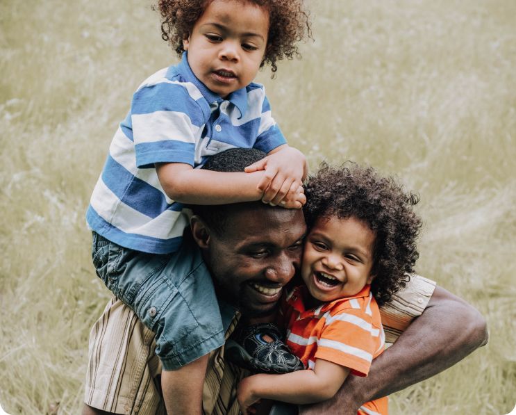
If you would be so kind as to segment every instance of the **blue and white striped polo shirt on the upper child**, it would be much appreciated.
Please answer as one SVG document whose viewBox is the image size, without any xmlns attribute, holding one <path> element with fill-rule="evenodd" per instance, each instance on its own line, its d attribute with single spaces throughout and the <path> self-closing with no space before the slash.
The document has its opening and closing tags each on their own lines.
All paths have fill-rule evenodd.
<svg viewBox="0 0 516 415">
<path fill-rule="evenodd" d="M 197 79 L 186 54 L 135 92 L 111 142 L 86 220 L 105 238 L 143 252 L 177 250 L 188 217 L 160 185 L 154 163 L 202 165 L 234 147 L 265 153 L 285 143 L 263 86 L 250 83 L 226 99 Z"/>
</svg>

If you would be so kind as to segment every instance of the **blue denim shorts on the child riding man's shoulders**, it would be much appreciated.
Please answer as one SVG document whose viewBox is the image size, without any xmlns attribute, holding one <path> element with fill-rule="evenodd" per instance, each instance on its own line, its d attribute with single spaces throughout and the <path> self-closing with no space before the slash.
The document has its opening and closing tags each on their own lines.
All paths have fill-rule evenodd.
<svg viewBox="0 0 516 415">
<path fill-rule="evenodd" d="M 148 254 L 93 232 L 92 259 L 104 284 L 156 334 L 156 355 L 165 370 L 224 345 L 213 281 L 189 238 L 173 254 Z"/>
</svg>

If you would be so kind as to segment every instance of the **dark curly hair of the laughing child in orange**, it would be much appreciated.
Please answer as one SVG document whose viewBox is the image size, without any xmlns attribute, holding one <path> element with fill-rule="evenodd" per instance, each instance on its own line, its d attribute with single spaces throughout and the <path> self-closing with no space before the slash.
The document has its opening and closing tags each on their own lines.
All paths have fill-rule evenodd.
<svg viewBox="0 0 516 415">
<path fill-rule="evenodd" d="M 363 220 L 376 232 L 371 291 L 378 304 L 390 301 L 410 279 L 419 257 L 416 239 L 422 222 L 412 209 L 419 197 L 406 193 L 392 177 L 354 163 L 340 168 L 322 163 L 305 193 L 308 229 L 318 218 L 336 215 Z"/>
</svg>

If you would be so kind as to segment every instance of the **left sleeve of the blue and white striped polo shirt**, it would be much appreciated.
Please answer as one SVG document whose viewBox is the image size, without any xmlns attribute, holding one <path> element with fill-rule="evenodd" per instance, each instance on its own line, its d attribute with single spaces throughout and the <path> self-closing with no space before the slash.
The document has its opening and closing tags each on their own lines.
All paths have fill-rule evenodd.
<svg viewBox="0 0 516 415">
<path fill-rule="evenodd" d="M 138 168 L 153 168 L 154 163 L 194 165 L 203 113 L 183 84 L 166 80 L 142 86 L 133 95 L 131 123 Z"/>
</svg>

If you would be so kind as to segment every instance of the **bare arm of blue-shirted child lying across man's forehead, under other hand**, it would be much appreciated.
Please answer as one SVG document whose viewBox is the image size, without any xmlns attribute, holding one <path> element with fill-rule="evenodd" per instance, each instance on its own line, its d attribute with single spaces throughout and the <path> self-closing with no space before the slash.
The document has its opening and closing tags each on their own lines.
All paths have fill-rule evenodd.
<svg viewBox="0 0 516 415">
<path fill-rule="evenodd" d="M 226 204 L 260 200 L 258 189 L 265 172 L 225 173 L 194 169 L 185 163 L 159 163 L 156 171 L 168 197 L 188 204 Z M 285 199 L 289 208 L 300 208 L 306 198 L 303 189 L 297 189 Z"/>
</svg>

